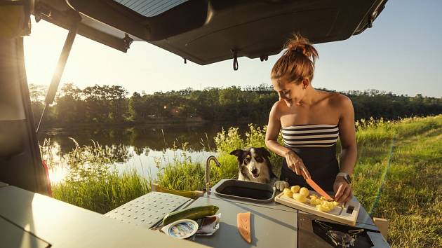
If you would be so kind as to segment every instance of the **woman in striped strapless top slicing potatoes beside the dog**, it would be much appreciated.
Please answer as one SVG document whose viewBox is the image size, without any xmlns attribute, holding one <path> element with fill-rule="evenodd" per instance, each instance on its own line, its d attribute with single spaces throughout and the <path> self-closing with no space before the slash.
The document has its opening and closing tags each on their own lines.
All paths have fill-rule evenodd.
<svg viewBox="0 0 442 248">
<path fill-rule="evenodd" d="M 296 34 L 285 48 L 270 74 L 279 101 L 270 111 L 265 144 L 286 158 L 281 180 L 291 186 L 307 186 L 304 177 L 311 178 L 325 191 L 334 191 L 336 201 L 347 202 L 352 197 L 350 176 L 356 163 L 351 100 L 313 88 L 318 52 L 307 39 Z M 284 146 L 277 142 L 281 128 Z M 336 158 L 338 136 L 340 166 Z"/>
</svg>

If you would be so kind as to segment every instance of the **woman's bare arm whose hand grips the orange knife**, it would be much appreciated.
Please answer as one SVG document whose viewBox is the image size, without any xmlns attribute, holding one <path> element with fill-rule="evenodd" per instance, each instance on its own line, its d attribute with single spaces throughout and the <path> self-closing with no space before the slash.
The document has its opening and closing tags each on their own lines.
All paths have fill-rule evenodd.
<svg viewBox="0 0 442 248">
<path fill-rule="evenodd" d="M 304 172 L 305 177 L 310 178 L 310 173 L 302 162 L 302 159 L 297 156 L 294 151 L 278 143 L 279 130 L 281 130 L 281 117 L 278 111 L 278 104 L 279 102 L 276 102 L 272 106 L 272 110 L 270 110 L 269 124 L 267 125 L 267 131 L 265 133 L 265 145 L 274 153 L 286 158 L 287 166 L 297 175 L 301 176 L 302 172 Z"/>
</svg>

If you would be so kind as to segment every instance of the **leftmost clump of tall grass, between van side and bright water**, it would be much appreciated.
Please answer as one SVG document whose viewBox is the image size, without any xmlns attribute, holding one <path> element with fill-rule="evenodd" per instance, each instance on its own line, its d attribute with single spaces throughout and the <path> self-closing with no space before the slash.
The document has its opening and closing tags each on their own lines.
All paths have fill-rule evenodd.
<svg viewBox="0 0 442 248">
<path fill-rule="evenodd" d="M 150 191 L 149 180 L 135 170 L 119 174 L 112 164 L 121 158 L 115 157 L 109 146 L 97 142 L 92 146 L 79 146 L 75 139 L 72 142 L 75 144 L 72 151 L 57 162 L 49 162 L 51 166 L 69 165 L 65 181 L 52 184 L 54 198 L 105 214 Z M 48 147 L 51 143 L 45 142 L 41 150 L 50 151 Z M 43 158 L 51 157 L 43 154 Z"/>
</svg>

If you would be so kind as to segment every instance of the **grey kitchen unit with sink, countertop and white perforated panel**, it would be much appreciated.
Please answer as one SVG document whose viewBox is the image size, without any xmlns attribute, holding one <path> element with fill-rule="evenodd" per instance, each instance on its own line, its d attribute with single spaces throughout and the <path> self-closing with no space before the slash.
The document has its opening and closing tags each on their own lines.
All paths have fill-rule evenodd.
<svg viewBox="0 0 442 248">
<path fill-rule="evenodd" d="M 257 192 L 262 195 L 257 195 Z M 221 214 L 219 230 L 210 236 L 194 236 L 194 242 L 209 247 L 333 247 L 329 245 L 327 236 L 321 237 L 328 231 L 321 230 L 321 226 L 315 222 L 321 221 L 319 223 L 336 225 L 332 226 L 336 230 L 363 230 L 356 237 L 359 247 L 389 247 L 363 207 L 359 208 L 354 226 L 348 226 L 279 204 L 274 200 L 278 195 L 268 184 L 222 179 L 212 187 L 212 193 L 205 193 L 196 200 L 151 192 L 105 215 L 136 226 L 155 229 L 156 226 L 161 226 L 162 217 L 168 211 L 215 205 L 219 207 L 218 213 Z M 164 211 L 164 206 L 169 210 Z M 243 212 L 250 212 L 250 244 L 243 240 L 237 228 L 236 215 Z"/>
</svg>

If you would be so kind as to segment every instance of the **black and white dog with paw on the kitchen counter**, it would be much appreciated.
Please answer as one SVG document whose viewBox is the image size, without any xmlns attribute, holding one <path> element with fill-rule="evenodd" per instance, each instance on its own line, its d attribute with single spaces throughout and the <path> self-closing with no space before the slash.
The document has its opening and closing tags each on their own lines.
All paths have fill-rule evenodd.
<svg viewBox="0 0 442 248">
<path fill-rule="evenodd" d="M 264 147 L 250 147 L 246 150 L 236 149 L 230 155 L 238 158 L 238 180 L 271 184 L 279 191 L 288 188 L 288 182 L 279 181 L 272 172 L 272 163 L 269 160 L 270 153 Z"/>
</svg>

